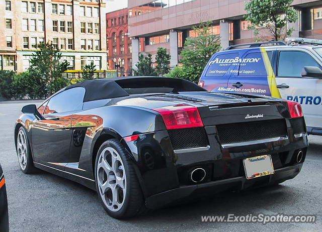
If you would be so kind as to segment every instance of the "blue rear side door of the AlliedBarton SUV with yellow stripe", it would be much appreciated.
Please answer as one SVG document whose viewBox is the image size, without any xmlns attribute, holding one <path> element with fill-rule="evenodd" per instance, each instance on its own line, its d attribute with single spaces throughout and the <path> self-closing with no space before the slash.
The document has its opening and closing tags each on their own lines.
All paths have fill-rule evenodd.
<svg viewBox="0 0 322 232">
<path fill-rule="evenodd" d="M 273 51 L 252 49 L 238 59 L 238 69 L 228 80 L 229 92 L 271 95 Z"/>
</svg>

